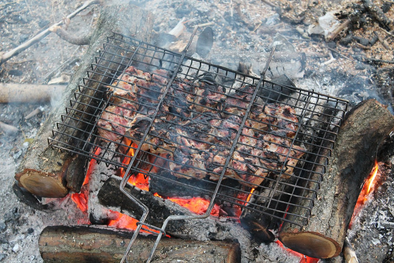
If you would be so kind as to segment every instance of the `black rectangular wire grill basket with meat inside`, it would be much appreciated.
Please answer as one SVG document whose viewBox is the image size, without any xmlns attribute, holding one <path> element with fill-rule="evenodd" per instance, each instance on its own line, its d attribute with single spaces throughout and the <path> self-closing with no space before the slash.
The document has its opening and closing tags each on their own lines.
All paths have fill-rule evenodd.
<svg viewBox="0 0 394 263">
<path fill-rule="evenodd" d="M 49 145 L 304 226 L 347 101 L 180 59 L 113 33 Z"/>
</svg>

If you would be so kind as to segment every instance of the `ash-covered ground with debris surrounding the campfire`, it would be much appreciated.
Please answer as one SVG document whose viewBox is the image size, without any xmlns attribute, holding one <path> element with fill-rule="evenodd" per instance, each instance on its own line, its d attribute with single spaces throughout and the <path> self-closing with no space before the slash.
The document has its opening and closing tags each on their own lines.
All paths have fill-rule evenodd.
<svg viewBox="0 0 394 263">
<path fill-rule="evenodd" d="M 71 21 L 66 21 L 68 30 L 76 35 L 87 34 L 95 26 L 104 4 L 121 2 L 129 3 L 102 1 L 87 7 Z M 292 76 L 297 87 L 348 99 L 351 106 L 364 99 L 376 98 L 392 109 L 394 26 L 385 23 L 385 19 L 394 19 L 392 2 L 373 2 L 383 14 L 380 17 L 363 5 L 365 1 L 272 0 L 271 5 L 266 2 L 130 1 L 152 11 L 154 30 L 158 33 L 169 32 L 185 18 L 186 28 L 173 43 L 173 48 L 182 47 L 195 25 L 201 24 L 201 29 L 204 29 L 208 23 L 214 32 L 212 51 L 204 58 L 208 62 L 231 69 L 237 69 L 239 62 L 245 62 L 259 75 L 269 50 L 277 45 L 279 52 L 305 54 L 301 56 L 305 60 L 299 65 L 294 60 L 284 62 L 297 64 L 296 68 L 290 67 L 284 72 Z M 82 0 L 0 0 L 0 56 L 61 21 L 82 3 Z M 333 13 L 339 23 L 349 21 L 344 31 L 329 41 L 325 41 L 321 34 L 309 34 L 312 27 L 319 21 L 323 23 L 322 17 L 331 11 L 335 11 Z M 325 19 L 335 23 L 329 17 Z M 50 34 L 3 63 L 0 66 L 0 84 L 19 83 L 26 89 L 29 84 L 65 84 L 86 49 L 87 46 L 71 45 Z M 271 78 L 279 71 L 281 64 L 270 68 L 267 77 Z M 19 129 L 15 134 L 0 130 L 0 261 L 3 262 L 42 262 L 38 250 L 41 230 L 48 225 L 78 224 L 78 220 L 83 218 L 70 198 L 58 200 L 52 209 L 40 211 L 20 202 L 12 190 L 15 168 L 54 103 L 56 98 L 51 102 L 0 104 L 0 121 Z M 39 114 L 25 119 L 37 108 Z M 388 170 L 392 165 L 392 159 L 388 158 L 384 167 Z M 377 254 L 380 249 L 383 256 L 379 257 L 380 261 L 377 257 L 361 257 L 360 262 L 392 261 L 392 229 L 390 224 L 382 223 L 394 222 L 393 174 L 388 171 L 385 176 L 388 180 L 378 189 L 386 190 L 385 194 L 377 192 L 374 195 L 377 199 L 367 202 L 376 209 L 355 222 L 361 231 L 352 229 L 350 232 L 356 247 L 376 248 Z M 383 198 L 379 199 L 381 196 Z M 373 239 L 365 241 L 368 231 L 374 233 Z M 251 254 L 257 255 L 255 260 L 258 262 L 298 262 L 291 257 L 281 257 L 282 250 L 275 245 L 261 244 Z M 247 258 L 244 257 L 243 261 L 246 262 Z"/>
</svg>

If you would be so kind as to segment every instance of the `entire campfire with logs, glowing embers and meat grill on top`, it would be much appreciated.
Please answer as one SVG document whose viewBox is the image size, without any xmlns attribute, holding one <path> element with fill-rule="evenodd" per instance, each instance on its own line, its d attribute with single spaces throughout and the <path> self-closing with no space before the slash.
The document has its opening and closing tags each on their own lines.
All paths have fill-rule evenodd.
<svg viewBox="0 0 394 263">
<path fill-rule="evenodd" d="M 135 32 L 114 22 L 136 13 Z M 45 228 L 44 260 L 258 261 L 260 244 L 300 263 L 354 256 L 348 228 L 394 127 L 385 106 L 348 111 L 345 99 L 267 78 L 275 47 L 256 75 L 190 56 L 212 29 L 196 44 L 196 26 L 178 52 L 150 41 L 145 11 L 102 16 L 82 82 L 15 175 L 43 200 L 71 198 L 89 222 Z"/>
</svg>

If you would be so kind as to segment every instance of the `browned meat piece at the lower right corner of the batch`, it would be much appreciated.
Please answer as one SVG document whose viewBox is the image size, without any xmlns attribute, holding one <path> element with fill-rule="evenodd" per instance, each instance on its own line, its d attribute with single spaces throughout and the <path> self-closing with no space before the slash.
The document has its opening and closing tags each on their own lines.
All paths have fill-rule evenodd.
<svg viewBox="0 0 394 263">
<path fill-rule="evenodd" d="M 297 145 L 293 145 L 289 153 L 290 140 L 271 134 L 263 135 L 258 146 L 262 149 L 260 162 L 278 173 L 283 169 L 282 177 L 285 179 L 292 175 L 298 159 L 305 153 L 305 149 Z M 287 154 L 289 157 L 285 162 Z"/>
</svg>

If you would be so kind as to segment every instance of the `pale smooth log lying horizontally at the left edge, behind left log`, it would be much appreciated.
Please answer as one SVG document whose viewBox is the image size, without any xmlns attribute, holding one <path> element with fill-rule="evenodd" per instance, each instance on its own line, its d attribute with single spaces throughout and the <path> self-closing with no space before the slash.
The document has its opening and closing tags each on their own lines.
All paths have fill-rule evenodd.
<svg viewBox="0 0 394 263">
<path fill-rule="evenodd" d="M 37 103 L 61 94 L 65 85 L 0 83 L 0 103 Z"/>
</svg>

